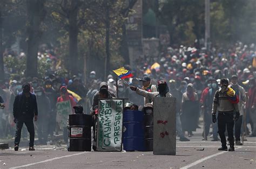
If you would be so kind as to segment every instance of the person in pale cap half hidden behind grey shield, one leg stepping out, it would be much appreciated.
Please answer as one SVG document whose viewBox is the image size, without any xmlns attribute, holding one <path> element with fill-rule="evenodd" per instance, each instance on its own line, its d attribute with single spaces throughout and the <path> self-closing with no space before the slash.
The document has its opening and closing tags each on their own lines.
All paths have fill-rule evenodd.
<svg viewBox="0 0 256 169">
<path fill-rule="evenodd" d="M 178 136 L 180 137 L 181 142 L 189 142 L 190 139 L 186 138 L 183 130 L 182 130 L 182 125 L 180 121 L 180 113 L 181 113 L 181 99 L 182 99 L 182 93 L 177 90 L 176 88 L 176 81 L 175 80 L 170 80 L 170 93 L 173 95 L 173 97 L 176 98 L 176 131 L 178 133 Z"/>
</svg>

